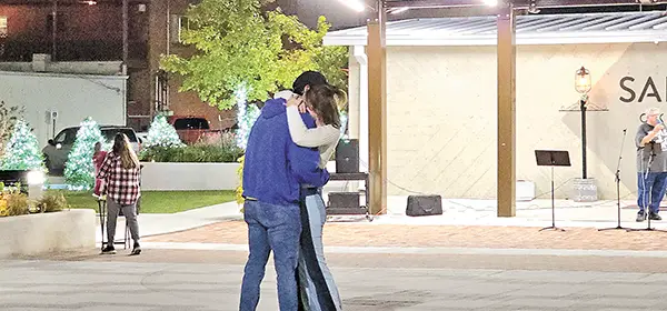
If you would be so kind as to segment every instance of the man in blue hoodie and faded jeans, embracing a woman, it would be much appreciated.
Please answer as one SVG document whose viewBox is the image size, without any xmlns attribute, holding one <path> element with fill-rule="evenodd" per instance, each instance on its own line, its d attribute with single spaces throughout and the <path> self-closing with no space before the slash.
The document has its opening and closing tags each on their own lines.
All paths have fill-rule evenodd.
<svg viewBox="0 0 667 311">
<path fill-rule="evenodd" d="M 285 99 L 266 102 L 252 126 L 243 163 L 243 215 L 249 255 L 241 285 L 240 310 L 255 310 L 269 253 L 273 251 L 280 311 L 297 311 L 296 268 L 301 233 L 301 183 L 322 187 L 329 173 L 319 169 L 317 149 L 292 142 Z M 309 128 L 315 120 L 301 114 Z"/>
</svg>

